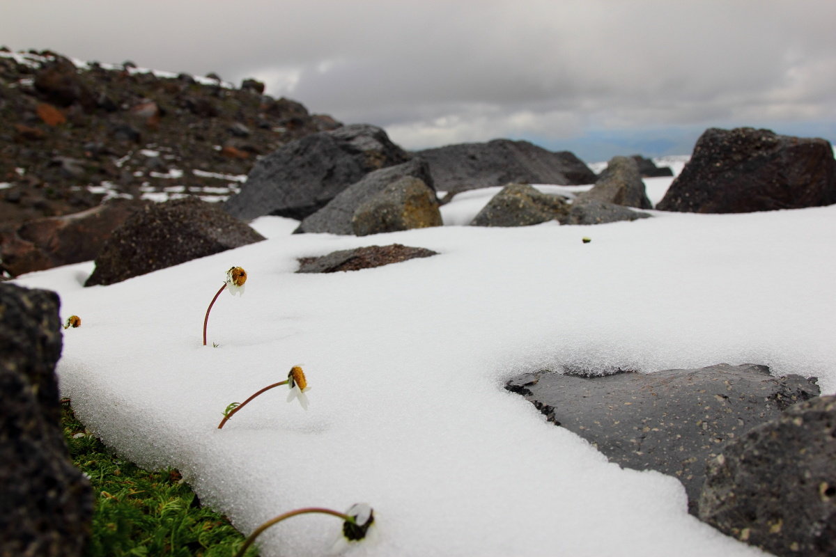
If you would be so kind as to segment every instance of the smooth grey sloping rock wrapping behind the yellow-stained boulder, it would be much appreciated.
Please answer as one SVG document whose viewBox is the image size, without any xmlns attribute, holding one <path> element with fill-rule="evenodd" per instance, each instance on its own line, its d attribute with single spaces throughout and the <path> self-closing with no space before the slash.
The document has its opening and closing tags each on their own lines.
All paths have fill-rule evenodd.
<svg viewBox="0 0 836 557">
<path fill-rule="evenodd" d="M 433 189 L 430 167 L 424 160 L 414 158 L 401 165 L 388 166 L 364 175 L 359 181 L 339 192 L 322 209 L 303 220 L 294 233 L 328 232 L 329 234 L 354 234 L 351 220 L 357 208 L 396 181 L 411 177 Z"/>
</svg>

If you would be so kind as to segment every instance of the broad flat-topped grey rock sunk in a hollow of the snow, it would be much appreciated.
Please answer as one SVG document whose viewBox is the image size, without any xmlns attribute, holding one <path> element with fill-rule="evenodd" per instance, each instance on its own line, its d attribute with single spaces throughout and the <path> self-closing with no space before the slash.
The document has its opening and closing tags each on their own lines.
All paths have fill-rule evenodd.
<svg viewBox="0 0 836 557">
<path fill-rule="evenodd" d="M 720 453 L 723 443 L 819 392 L 814 379 L 772 377 L 768 367 L 753 364 L 604 377 L 543 371 L 517 377 L 506 388 L 610 460 L 680 479 L 692 514 L 706 460 Z"/>
</svg>

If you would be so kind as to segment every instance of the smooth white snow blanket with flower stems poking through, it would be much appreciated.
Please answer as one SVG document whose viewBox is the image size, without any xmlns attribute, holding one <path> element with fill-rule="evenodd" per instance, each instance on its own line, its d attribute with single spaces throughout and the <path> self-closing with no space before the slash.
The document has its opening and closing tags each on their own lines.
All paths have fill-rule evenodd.
<svg viewBox="0 0 836 557">
<path fill-rule="evenodd" d="M 475 214 L 469 195 L 445 218 Z M 836 392 L 836 206 L 650 212 L 361 238 L 291 235 L 295 221 L 263 217 L 268 241 L 119 284 L 83 288 L 89 262 L 16 282 L 58 291 L 64 319 L 83 319 L 64 331 L 58 372 L 89 430 L 143 466 L 180 469 L 244 533 L 290 509 L 367 502 L 377 539 L 351 554 L 762 554 L 688 514 L 678 480 L 608 463 L 503 389 L 563 363 L 754 362 Z M 293 272 L 298 257 L 393 242 L 441 255 Z M 247 293 L 222 293 L 208 327 L 220 347 L 203 347 L 231 266 L 247 270 Z M 297 364 L 307 412 L 270 391 L 217 429 L 227 404 Z M 339 526 L 288 520 L 260 538 L 262 554 L 323 554 Z"/>
</svg>

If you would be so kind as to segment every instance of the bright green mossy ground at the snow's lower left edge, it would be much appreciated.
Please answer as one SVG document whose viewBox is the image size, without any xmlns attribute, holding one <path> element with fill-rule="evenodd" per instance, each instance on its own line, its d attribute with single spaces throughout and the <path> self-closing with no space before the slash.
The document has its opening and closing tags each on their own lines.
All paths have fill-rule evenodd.
<svg viewBox="0 0 836 557">
<path fill-rule="evenodd" d="M 180 473 L 149 472 L 125 461 L 84 432 L 69 403 L 61 408 L 70 457 L 93 484 L 87 557 L 230 557 L 241 546 L 242 534 L 202 508 Z M 256 549 L 247 551 L 247 557 L 256 555 Z"/>
</svg>

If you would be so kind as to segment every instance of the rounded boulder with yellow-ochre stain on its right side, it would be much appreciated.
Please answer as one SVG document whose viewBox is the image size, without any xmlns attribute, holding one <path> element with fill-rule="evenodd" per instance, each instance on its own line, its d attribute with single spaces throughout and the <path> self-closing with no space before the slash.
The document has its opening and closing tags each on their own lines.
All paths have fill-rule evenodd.
<svg viewBox="0 0 836 557">
<path fill-rule="evenodd" d="M 355 235 L 441 226 L 436 192 L 424 180 L 405 176 L 360 205 L 351 219 Z"/>
</svg>

